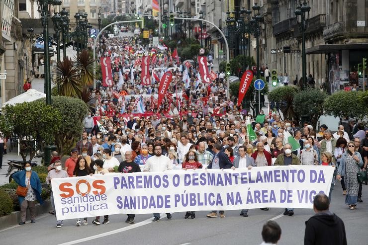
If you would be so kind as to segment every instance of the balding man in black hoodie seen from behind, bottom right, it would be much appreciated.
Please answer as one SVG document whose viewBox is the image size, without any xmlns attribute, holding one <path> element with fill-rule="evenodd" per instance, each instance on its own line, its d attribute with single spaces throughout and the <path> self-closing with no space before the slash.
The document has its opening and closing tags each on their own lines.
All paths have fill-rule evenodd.
<svg viewBox="0 0 368 245">
<path fill-rule="evenodd" d="M 347 245 L 344 222 L 329 210 L 328 203 L 325 194 L 314 197 L 316 214 L 305 222 L 304 245 Z"/>
</svg>

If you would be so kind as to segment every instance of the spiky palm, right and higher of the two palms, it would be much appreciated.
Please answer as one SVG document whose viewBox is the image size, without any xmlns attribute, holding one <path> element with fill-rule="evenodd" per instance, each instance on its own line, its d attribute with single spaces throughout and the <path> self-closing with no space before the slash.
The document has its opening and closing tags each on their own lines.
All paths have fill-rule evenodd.
<svg viewBox="0 0 368 245">
<path fill-rule="evenodd" d="M 77 54 L 74 64 L 79 71 L 79 78 L 82 86 L 92 85 L 94 60 L 90 57 L 90 54 L 86 49 Z"/>
</svg>

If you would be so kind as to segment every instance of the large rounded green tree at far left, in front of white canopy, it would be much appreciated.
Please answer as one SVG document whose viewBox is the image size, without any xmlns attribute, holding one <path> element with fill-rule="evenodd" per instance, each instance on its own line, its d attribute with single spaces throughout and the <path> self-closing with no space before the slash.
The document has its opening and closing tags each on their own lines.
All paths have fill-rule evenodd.
<svg viewBox="0 0 368 245">
<path fill-rule="evenodd" d="M 20 155 L 24 162 L 28 153 L 28 161 L 31 161 L 43 143 L 53 142 L 60 126 L 60 112 L 39 100 L 6 105 L 0 116 L 0 128 L 4 136 L 16 135 L 20 139 Z M 34 140 L 37 147 L 31 143 Z"/>
</svg>

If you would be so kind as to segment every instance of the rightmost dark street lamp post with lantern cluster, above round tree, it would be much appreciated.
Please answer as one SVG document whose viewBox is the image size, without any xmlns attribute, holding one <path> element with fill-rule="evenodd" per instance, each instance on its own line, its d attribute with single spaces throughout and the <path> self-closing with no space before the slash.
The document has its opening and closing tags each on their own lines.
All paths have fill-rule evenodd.
<svg viewBox="0 0 368 245">
<path fill-rule="evenodd" d="M 303 78 L 303 88 L 306 87 L 307 84 L 307 69 L 306 69 L 306 57 L 305 57 L 305 31 L 307 30 L 307 22 L 309 19 L 309 10 L 310 6 L 307 5 L 307 2 L 304 0 L 300 3 L 300 6 L 295 10 L 296 21 L 299 25 L 299 29 L 301 31 L 301 55 L 302 55 L 302 78 Z"/>
</svg>

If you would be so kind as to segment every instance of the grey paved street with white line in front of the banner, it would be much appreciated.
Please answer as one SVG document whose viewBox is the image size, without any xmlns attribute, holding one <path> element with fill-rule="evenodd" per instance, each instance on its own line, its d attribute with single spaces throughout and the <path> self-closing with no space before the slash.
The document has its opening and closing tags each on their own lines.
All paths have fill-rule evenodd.
<svg viewBox="0 0 368 245">
<path fill-rule="evenodd" d="M 368 225 L 368 186 L 363 186 L 363 200 L 355 211 L 344 204 L 340 183 L 333 191 L 331 211 L 345 222 L 349 245 L 366 244 Z M 239 216 L 239 211 L 227 211 L 226 218 L 206 218 L 206 212 L 197 212 L 195 220 L 185 220 L 184 213 L 173 214 L 172 220 L 165 215 L 158 223 L 152 223 L 152 215 L 137 215 L 136 224 L 124 223 L 126 215 L 110 216 L 110 224 L 76 227 L 75 220 L 64 221 L 61 229 L 55 227 L 55 218 L 46 214 L 37 217 L 35 224 L 15 226 L 0 231 L 1 244 L 18 245 L 27 241 L 28 245 L 43 244 L 246 244 L 258 245 L 262 242 L 263 224 L 274 219 L 281 226 L 282 235 L 279 244 L 303 244 L 305 221 L 313 215 L 313 210 L 295 209 L 293 217 L 282 215 L 283 209 L 270 211 L 250 210 L 249 217 Z"/>
</svg>

